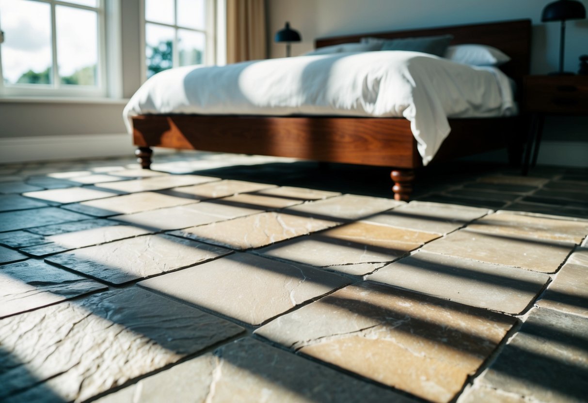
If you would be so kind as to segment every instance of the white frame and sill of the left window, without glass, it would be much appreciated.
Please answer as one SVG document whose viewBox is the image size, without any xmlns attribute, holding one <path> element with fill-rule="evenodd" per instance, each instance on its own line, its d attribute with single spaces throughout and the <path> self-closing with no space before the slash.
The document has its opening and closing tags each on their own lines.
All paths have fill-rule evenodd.
<svg viewBox="0 0 588 403">
<path fill-rule="evenodd" d="M 51 7 L 52 83 L 10 84 L 4 83 L 2 54 L 0 52 L 0 96 L 41 96 L 73 98 L 121 98 L 121 0 L 98 0 L 96 7 L 69 3 L 67 0 L 30 0 L 49 4 Z M 57 68 L 57 35 L 55 6 L 95 11 L 98 15 L 98 65 L 96 86 L 63 85 Z M 1 29 L 1 27 L 0 27 Z M 108 32 L 108 35 L 107 35 Z M 0 46 L 2 46 L 0 44 Z"/>
</svg>

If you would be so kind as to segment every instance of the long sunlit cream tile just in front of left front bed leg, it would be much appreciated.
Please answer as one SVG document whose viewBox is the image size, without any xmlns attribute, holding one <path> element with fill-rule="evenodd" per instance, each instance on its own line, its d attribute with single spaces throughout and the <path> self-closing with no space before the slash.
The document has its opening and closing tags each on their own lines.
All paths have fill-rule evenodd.
<svg viewBox="0 0 588 403">
<path fill-rule="evenodd" d="M 96 184 L 96 187 L 118 190 L 126 193 L 138 193 L 149 192 L 151 190 L 170 189 L 171 187 L 176 186 L 212 182 L 215 180 L 219 180 L 219 178 L 198 175 L 166 175 L 147 177 L 144 179 L 123 180 L 121 182 L 99 183 Z"/>
</svg>

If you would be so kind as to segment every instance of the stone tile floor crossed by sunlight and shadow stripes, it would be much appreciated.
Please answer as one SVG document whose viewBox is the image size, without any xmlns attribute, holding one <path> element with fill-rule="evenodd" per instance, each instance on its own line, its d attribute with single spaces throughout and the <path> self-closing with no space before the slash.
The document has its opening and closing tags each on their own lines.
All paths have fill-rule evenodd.
<svg viewBox="0 0 588 403">
<path fill-rule="evenodd" d="M 588 170 L 153 169 L 0 166 L 0 401 L 588 401 Z"/>
</svg>

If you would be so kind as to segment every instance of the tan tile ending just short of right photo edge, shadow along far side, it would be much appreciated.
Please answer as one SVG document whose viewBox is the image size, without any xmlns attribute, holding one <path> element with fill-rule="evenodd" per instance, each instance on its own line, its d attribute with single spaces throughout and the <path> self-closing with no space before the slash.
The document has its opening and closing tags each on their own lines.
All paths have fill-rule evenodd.
<svg viewBox="0 0 588 403">
<path fill-rule="evenodd" d="M 574 244 L 563 241 L 524 239 L 462 229 L 435 240 L 423 250 L 456 257 L 555 273 Z"/>
</svg>

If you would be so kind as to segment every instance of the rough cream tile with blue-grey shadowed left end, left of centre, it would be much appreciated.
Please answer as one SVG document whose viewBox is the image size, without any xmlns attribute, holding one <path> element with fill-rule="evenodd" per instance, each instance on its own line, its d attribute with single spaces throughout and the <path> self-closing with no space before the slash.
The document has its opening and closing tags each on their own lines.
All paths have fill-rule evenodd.
<svg viewBox="0 0 588 403">
<path fill-rule="evenodd" d="M 109 284 L 123 284 L 193 266 L 230 252 L 188 239 L 146 235 L 76 249 L 45 260 Z"/>
</svg>

